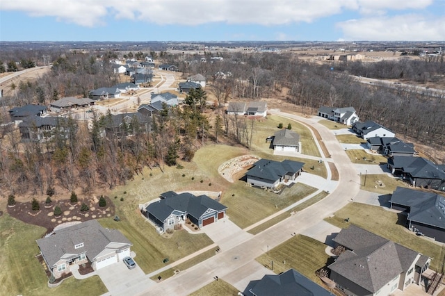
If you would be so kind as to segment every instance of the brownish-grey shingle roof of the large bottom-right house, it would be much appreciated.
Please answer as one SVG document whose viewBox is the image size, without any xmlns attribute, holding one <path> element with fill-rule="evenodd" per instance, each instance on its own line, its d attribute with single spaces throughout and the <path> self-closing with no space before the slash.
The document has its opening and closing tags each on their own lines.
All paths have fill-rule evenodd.
<svg viewBox="0 0 445 296">
<path fill-rule="evenodd" d="M 334 241 L 345 242 L 350 250 L 328 268 L 372 293 L 407 272 L 419 254 L 355 225 L 342 229 Z"/>
</svg>

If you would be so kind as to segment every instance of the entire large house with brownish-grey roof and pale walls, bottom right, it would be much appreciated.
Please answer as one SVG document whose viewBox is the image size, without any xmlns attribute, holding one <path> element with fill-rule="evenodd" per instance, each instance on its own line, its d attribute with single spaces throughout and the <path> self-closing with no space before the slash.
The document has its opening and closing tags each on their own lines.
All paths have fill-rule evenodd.
<svg viewBox="0 0 445 296">
<path fill-rule="evenodd" d="M 350 225 L 333 239 L 346 251 L 329 265 L 330 279 L 346 295 L 388 296 L 419 285 L 431 259 L 391 240 Z"/>
</svg>

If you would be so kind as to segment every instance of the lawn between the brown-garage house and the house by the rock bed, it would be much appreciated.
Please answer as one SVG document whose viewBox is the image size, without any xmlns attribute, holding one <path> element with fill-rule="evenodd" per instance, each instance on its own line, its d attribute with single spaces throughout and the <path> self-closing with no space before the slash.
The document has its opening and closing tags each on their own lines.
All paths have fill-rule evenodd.
<svg viewBox="0 0 445 296">
<path fill-rule="evenodd" d="M 243 229 L 315 191 L 316 188 L 296 183 L 291 188 L 284 189 L 281 195 L 277 195 L 246 186 L 244 181 L 235 181 L 233 186 L 227 188 L 221 203 L 228 207 L 227 215 L 230 220 Z"/>
</svg>

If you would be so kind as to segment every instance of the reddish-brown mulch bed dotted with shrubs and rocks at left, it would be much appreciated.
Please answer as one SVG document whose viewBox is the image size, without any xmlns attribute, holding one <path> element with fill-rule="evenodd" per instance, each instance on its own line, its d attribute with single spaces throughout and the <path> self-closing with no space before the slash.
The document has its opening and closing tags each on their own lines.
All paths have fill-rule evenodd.
<svg viewBox="0 0 445 296">
<path fill-rule="evenodd" d="M 31 202 L 17 202 L 14 207 L 8 206 L 8 213 L 12 217 L 25 223 L 38 225 L 47 229 L 47 233 L 54 227 L 65 222 L 84 222 L 102 217 L 114 217 L 115 207 L 109 197 L 104 196 L 106 206 L 99 207 L 99 198 L 78 199 L 76 204 L 71 204 L 70 199 L 53 201 L 50 208 L 46 208 L 44 202 L 40 202 L 40 210 L 33 211 Z M 85 203 L 90 209 L 82 213 L 81 205 Z M 60 206 L 62 215 L 54 217 L 54 207 Z"/>
</svg>

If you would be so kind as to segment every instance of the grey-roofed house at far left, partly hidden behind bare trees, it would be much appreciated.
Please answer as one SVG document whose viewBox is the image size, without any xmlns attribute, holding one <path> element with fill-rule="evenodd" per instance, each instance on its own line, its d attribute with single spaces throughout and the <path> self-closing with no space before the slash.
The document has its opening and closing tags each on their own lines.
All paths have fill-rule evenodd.
<svg viewBox="0 0 445 296">
<path fill-rule="evenodd" d="M 64 126 L 66 119 L 63 117 L 39 117 L 29 116 L 25 117 L 19 123 L 19 131 L 24 142 L 28 141 L 42 141 L 48 140 L 53 136 L 52 131 L 58 128 L 58 133 L 63 133 L 66 130 Z"/>
</svg>

